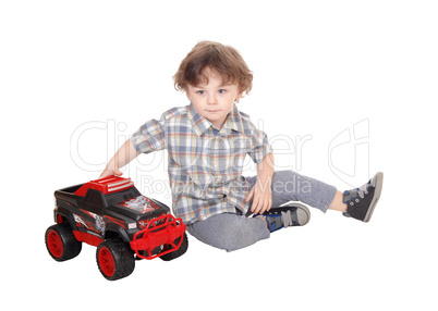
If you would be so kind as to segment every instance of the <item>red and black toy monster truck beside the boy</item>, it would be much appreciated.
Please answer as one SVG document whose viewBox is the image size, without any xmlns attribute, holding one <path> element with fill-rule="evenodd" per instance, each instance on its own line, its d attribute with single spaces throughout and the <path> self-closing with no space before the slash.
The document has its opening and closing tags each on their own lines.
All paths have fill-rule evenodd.
<svg viewBox="0 0 438 311">
<path fill-rule="evenodd" d="M 54 222 L 46 246 L 57 261 L 76 257 L 82 242 L 97 247 L 101 274 L 130 275 L 135 259 L 175 259 L 187 250 L 185 224 L 163 203 L 149 199 L 131 178 L 109 176 L 54 191 Z"/>
</svg>

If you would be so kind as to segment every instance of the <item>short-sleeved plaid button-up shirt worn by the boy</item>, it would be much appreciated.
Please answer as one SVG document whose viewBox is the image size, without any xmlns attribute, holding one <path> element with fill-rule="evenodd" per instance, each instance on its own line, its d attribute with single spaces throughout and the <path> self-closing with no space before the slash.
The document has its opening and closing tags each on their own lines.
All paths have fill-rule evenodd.
<svg viewBox="0 0 438 311">
<path fill-rule="evenodd" d="M 235 104 L 221 129 L 190 104 L 146 122 L 132 142 L 138 152 L 168 150 L 173 213 L 186 224 L 235 209 L 245 214 L 245 157 L 260 163 L 272 152 L 266 134 Z"/>
</svg>

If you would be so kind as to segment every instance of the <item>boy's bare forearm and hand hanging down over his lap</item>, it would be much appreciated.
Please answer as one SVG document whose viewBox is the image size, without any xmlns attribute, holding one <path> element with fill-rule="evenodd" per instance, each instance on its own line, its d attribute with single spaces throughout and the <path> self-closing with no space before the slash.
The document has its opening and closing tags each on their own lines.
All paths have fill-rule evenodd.
<svg viewBox="0 0 438 311">
<path fill-rule="evenodd" d="M 273 176 L 273 154 L 268 153 L 263 161 L 257 164 L 257 183 L 246 197 L 246 202 L 253 199 L 251 211 L 254 214 L 261 214 L 269 211 L 272 206 L 272 176 Z"/>
</svg>

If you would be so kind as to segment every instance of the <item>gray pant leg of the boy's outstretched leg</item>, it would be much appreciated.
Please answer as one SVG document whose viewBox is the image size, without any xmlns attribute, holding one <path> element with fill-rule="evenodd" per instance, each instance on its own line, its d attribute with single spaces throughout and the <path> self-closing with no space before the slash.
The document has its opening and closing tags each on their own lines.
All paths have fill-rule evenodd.
<svg viewBox="0 0 438 311">
<path fill-rule="evenodd" d="M 245 177 L 245 179 L 251 189 L 255 185 L 257 176 Z M 272 209 L 289 201 L 300 201 L 327 212 L 336 191 L 336 187 L 296 172 L 277 171 L 272 177 Z M 253 201 L 250 202 L 250 207 Z"/>
</svg>

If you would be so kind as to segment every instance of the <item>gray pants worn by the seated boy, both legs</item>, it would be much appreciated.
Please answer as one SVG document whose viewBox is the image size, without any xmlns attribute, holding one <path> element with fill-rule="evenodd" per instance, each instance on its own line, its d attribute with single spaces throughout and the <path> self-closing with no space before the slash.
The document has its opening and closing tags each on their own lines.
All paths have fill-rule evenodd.
<svg viewBox="0 0 438 311">
<path fill-rule="evenodd" d="M 245 177 L 253 188 L 257 176 Z M 272 178 L 272 207 L 290 201 L 301 201 L 326 212 L 334 198 L 336 188 L 293 171 L 278 171 Z M 250 202 L 250 208 L 253 201 Z M 236 213 L 214 215 L 205 221 L 187 225 L 187 232 L 198 240 L 227 251 L 236 250 L 270 236 L 266 223 L 257 217 Z"/>
</svg>

